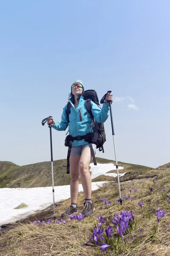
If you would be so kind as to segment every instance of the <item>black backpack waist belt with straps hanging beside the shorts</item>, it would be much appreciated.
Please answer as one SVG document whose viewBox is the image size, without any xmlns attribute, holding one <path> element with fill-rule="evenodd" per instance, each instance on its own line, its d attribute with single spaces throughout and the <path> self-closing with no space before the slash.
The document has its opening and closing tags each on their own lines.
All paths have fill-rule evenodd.
<svg viewBox="0 0 170 256">
<path fill-rule="evenodd" d="M 72 144 L 73 144 L 74 140 L 86 140 L 90 144 L 90 150 L 91 150 L 91 155 L 93 157 L 93 162 L 94 162 L 94 165 L 97 165 L 94 150 L 93 150 L 93 146 L 92 146 L 92 143 L 91 143 L 91 140 L 92 140 L 91 139 L 91 133 L 83 135 L 83 136 L 76 136 L 76 137 L 72 137 L 70 135 L 70 142 L 69 142 L 69 145 L 68 145 L 68 153 L 67 153 L 67 174 L 70 173 L 70 154 L 71 154 L 71 147 L 72 147 Z"/>
</svg>

